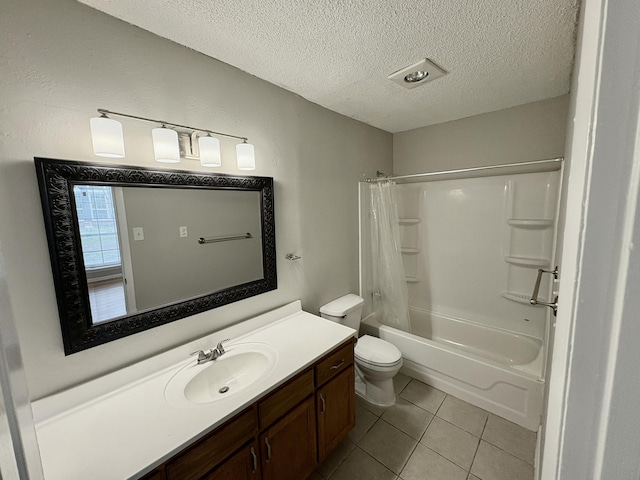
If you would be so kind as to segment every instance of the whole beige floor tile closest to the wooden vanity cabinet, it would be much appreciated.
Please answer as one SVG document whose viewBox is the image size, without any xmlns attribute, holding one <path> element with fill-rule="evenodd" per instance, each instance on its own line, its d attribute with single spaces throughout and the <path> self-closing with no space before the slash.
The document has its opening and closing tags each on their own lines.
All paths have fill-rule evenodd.
<svg viewBox="0 0 640 480">
<path fill-rule="evenodd" d="M 389 470 L 400 473 L 417 443 L 384 420 L 378 420 L 358 446 Z"/>
</svg>

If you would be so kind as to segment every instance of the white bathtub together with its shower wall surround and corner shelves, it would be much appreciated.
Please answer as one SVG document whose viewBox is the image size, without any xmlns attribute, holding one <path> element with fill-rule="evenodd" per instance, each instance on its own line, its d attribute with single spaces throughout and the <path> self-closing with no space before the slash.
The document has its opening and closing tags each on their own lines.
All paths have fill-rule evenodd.
<svg viewBox="0 0 640 480">
<path fill-rule="evenodd" d="M 405 372 L 537 430 L 553 319 L 530 298 L 538 268 L 555 266 L 562 162 L 531 163 L 543 170 L 531 171 L 529 164 L 456 173 L 465 178 L 434 172 L 398 185 L 409 333 L 394 330 L 395 319 L 377 320 L 389 326 L 379 335 L 400 349 Z M 496 174 L 467 176 L 487 173 Z M 385 292 L 370 287 L 374 260 L 363 235 L 369 231 L 364 203 L 360 293 L 366 316 Z M 542 301 L 555 296 L 550 278 L 543 276 Z"/>
</svg>

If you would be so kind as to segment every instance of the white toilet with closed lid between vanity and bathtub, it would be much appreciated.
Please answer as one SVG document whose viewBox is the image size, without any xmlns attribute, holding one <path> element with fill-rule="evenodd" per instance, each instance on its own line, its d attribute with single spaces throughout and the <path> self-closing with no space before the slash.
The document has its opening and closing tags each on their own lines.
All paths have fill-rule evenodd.
<svg viewBox="0 0 640 480">
<path fill-rule="evenodd" d="M 355 329 L 357 335 L 363 305 L 362 297 L 350 293 L 323 305 L 320 316 Z M 363 335 L 358 338 L 354 356 L 356 393 L 375 405 L 393 405 L 393 377 L 402 366 L 400 350 L 385 340 Z"/>
</svg>

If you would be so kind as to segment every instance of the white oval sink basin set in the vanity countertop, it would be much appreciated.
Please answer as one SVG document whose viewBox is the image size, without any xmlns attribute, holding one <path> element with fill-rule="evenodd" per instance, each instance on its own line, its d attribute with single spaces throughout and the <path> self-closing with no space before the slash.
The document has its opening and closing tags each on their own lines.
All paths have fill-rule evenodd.
<svg viewBox="0 0 640 480">
<path fill-rule="evenodd" d="M 224 355 L 198 365 L 194 360 L 167 383 L 165 398 L 173 405 L 207 404 L 234 396 L 273 371 L 277 352 L 266 344 L 229 346 Z"/>
</svg>

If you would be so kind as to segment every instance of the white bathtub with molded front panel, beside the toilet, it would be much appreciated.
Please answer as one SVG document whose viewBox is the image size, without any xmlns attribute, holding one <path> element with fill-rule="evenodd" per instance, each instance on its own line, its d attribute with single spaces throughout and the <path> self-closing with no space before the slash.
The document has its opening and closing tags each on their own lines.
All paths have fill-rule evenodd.
<svg viewBox="0 0 640 480">
<path fill-rule="evenodd" d="M 473 405 L 536 431 L 544 380 L 542 342 L 464 320 L 409 308 L 407 333 L 382 325 L 375 314 L 362 332 L 402 352 L 402 372 Z"/>
</svg>

